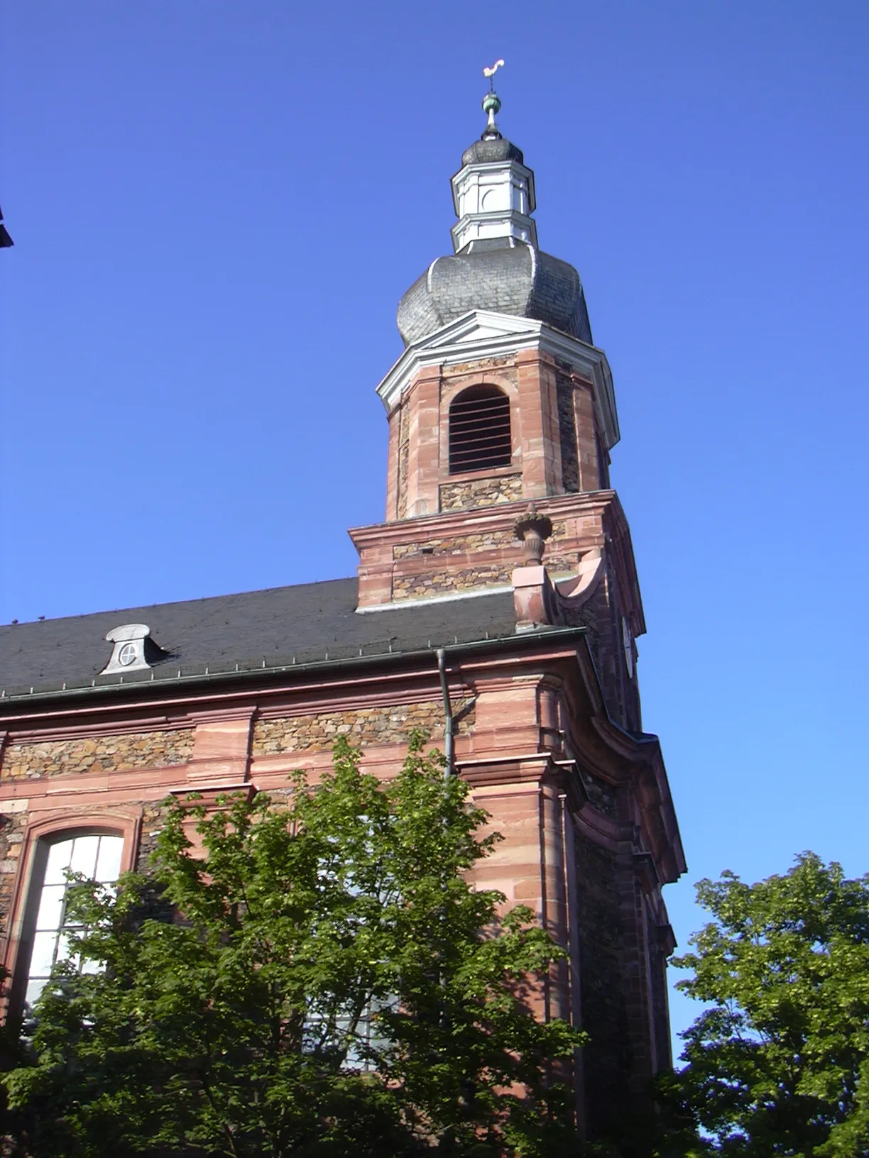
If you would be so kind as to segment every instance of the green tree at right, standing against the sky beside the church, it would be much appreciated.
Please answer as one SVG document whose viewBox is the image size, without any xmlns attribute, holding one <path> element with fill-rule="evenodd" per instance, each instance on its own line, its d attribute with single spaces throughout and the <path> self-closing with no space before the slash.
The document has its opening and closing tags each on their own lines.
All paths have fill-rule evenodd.
<svg viewBox="0 0 869 1158">
<path fill-rule="evenodd" d="M 662 1082 L 682 1128 L 659 1152 L 869 1155 L 869 877 L 805 852 L 754 885 L 702 880 L 698 900 L 713 921 L 673 965 L 708 1009 Z"/>
</svg>

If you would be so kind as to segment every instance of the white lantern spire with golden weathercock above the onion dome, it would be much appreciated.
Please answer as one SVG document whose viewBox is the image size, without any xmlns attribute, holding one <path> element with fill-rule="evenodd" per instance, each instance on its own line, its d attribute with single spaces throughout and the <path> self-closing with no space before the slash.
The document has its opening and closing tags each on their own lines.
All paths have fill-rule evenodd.
<svg viewBox="0 0 869 1158">
<path fill-rule="evenodd" d="M 468 245 L 501 241 L 514 245 L 525 242 L 538 247 L 534 212 L 534 174 L 524 163 L 521 152 L 505 140 L 495 120 L 501 97 L 495 91 L 495 73 L 503 66 L 496 60 L 483 68 L 489 91 L 483 97 L 487 124 L 479 141 L 465 149 L 461 169 L 452 178 L 453 205 L 459 221 L 453 226 L 457 254 Z"/>
</svg>

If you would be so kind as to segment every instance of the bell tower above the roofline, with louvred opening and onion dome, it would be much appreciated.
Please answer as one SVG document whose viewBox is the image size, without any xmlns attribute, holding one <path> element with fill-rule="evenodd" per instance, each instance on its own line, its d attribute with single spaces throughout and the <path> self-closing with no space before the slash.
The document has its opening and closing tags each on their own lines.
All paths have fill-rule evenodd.
<svg viewBox="0 0 869 1158">
<path fill-rule="evenodd" d="M 453 252 L 403 294 L 404 353 L 378 386 L 389 423 L 386 521 L 351 530 L 359 610 L 512 589 L 517 631 L 578 624 L 613 718 L 640 728 L 645 630 L 630 537 L 609 490 L 613 380 L 583 285 L 540 249 L 534 174 L 488 123 L 451 178 Z M 546 565 L 517 521 L 548 519 Z"/>
</svg>

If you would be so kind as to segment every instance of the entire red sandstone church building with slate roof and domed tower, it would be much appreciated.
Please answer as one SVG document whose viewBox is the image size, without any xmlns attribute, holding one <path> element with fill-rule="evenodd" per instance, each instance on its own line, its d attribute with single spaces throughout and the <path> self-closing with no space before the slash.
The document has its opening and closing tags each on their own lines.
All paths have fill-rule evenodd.
<svg viewBox="0 0 869 1158">
<path fill-rule="evenodd" d="M 579 274 L 539 248 L 494 93 L 483 108 L 453 252 L 399 303 L 386 512 L 350 530 L 357 576 L 0 626 L 3 963 L 21 1011 L 58 953 L 64 868 L 144 867 L 168 794 L 284 790 L 338 735 L 389 777 L 424 728 L 503 834 L 476 879 L 567 950 L 541 1016 L 590 1035 L 593 1137 L 671 1064 L 662 889 L 685 859 L 641 721 L 609 366 Z"/>
</svg>

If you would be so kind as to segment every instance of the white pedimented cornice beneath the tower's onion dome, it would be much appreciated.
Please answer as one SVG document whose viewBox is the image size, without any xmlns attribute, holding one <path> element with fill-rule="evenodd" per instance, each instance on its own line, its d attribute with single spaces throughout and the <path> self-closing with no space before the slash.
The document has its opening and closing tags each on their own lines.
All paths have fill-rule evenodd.
<svg viewBox="0 0 869 1158">
<path fill-rule="evenodd" d="M 620 438 L 619 416 L 606 354 L 597 346 L 530 317 L 488 309 L 463 314 L 434 334 L 411 343 L 378 386 L 378 394 L 390 413 L 415 375 L 428 366 L 504 358 L 520 350 L 548 353 L 591 381 L 603 442 L 607 450 L 615 446 Z"/>
</svg>

